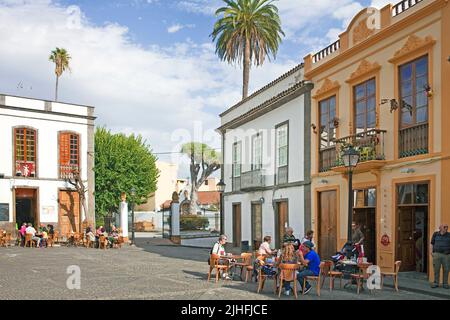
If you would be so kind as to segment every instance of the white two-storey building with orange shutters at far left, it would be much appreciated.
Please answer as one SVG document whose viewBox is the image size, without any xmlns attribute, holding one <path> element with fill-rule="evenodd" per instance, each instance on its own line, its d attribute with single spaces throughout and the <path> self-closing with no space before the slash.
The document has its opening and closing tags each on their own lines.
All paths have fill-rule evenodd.
<svg viewBox="0 0 450 320">
<path fill-rule="evenodd" d="M 66 178 L 78 170 L 95 221 L 94 108 L 0 95 L 0 228 L 52 224 L 79 231 L 84 212 Z"/>
</svg>

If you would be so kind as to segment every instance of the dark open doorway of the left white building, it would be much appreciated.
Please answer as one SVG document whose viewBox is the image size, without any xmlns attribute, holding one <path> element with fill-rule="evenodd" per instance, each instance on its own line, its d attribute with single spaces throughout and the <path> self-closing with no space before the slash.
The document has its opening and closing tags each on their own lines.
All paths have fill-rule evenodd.
<svg viewBox="0 0 450 320">
<path fill-rule="evenodd" d="M 37 217 L 37 190 L 36 189 L 15 189 L 16 198 L 16 223 L 20 226 L 23 223 L 31 223 L 35 228 L 39 223 Z"/>
</svg>

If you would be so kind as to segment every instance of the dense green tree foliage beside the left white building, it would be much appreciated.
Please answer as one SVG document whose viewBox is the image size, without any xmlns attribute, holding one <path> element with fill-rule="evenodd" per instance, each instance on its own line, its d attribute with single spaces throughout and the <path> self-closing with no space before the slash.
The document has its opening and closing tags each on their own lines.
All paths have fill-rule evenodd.
<svg viewBox="0 0 450 320">
<path fill-rule="evenodd" d="M 157 158 L 143 138 L 112 134 L 105 128 L 95 132 L 95 213 L 103 220 L 108 212 L 117 211 L 120 195 L 128 203 L 145 203 L 156 190 L 159 170 Z M 135 196 L 131 190 L 135 189 Z"/>
</svg>

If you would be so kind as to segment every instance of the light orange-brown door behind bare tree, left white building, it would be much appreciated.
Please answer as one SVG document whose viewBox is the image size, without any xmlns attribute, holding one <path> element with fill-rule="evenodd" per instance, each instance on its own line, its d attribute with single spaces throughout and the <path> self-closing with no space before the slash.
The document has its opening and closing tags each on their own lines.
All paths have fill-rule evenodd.
<svg viewBox="0 0 450 320">
<path fill-rule="evenodd" d="M 80 232 L 80 197 L 77 192 L 59 192 L 59 228 L 62 235 Z"/>
</svg>

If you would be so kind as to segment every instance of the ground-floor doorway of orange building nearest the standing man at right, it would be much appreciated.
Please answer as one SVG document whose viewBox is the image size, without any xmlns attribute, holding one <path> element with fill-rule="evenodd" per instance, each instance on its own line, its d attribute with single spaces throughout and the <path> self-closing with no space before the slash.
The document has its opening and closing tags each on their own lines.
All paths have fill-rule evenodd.
<svg viewBox="0 0 450 320">
<path fill-rule="evenodd" d="M 429 185 L 397 186 L 397 260 L 401 271 L 428 272 Z"/>
</svg>

